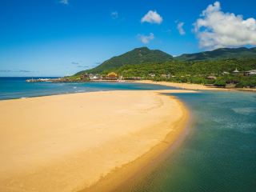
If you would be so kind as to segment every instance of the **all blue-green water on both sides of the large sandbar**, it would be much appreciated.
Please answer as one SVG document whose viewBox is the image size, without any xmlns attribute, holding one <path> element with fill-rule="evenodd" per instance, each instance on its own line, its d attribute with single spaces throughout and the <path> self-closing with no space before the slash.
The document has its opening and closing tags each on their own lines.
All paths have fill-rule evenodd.
<svg viewBox="0 0 256 192">
<path fill-rule="evenodd" d="M 173 89 L 139 83 L 25 82 L 0 78 L 0 99 L 98 90 Z M 256 94 L 200 91 L 173 94 L 193 114 L 190 133 L 149 173 L 118 191 L 255 192 Z"/>
</svg>

